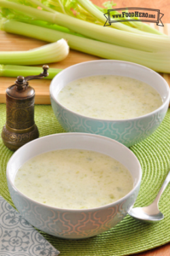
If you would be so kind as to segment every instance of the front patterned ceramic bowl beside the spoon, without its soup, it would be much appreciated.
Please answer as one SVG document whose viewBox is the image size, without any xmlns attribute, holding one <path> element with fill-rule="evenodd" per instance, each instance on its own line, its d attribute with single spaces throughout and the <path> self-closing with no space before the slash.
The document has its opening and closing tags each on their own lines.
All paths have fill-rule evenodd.
<svg viewBox="0 0 170 256">
<path fill-rule="evenodd" d="M 35 155 L 65 148 L 94 150 L 114 157 L 131 172 L 134 180 L 133 189 L 112 204 L 85 210 L 46 206 L 18 191 L 14 185 L 14 178 L 23 163 Z M 38 229 L 60 238 L 88 238 L 114 227 L 135 203 L 140 183 L 141 166 L 129 148 L 115 140 L 88 133 L 60 133 L 33 140 L 19 148 L 7 164 L 10 195 L 22 217 Z"/>
</svg>

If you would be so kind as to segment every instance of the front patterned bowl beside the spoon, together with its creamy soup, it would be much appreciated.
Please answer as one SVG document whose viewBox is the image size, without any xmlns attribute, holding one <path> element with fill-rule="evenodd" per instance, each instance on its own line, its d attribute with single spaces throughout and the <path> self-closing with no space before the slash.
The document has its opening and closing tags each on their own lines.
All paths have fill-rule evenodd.
<svg viewBox="0 0 170 256">
<path fill-rule="evenodd" d="M 96 236 L 122 221 L 141 184 L 126 146 L 100 135 L 60 133 L 19 148 L 7 164 L 12 200 L 31 225 L 52 236 Z"/>
</svg>

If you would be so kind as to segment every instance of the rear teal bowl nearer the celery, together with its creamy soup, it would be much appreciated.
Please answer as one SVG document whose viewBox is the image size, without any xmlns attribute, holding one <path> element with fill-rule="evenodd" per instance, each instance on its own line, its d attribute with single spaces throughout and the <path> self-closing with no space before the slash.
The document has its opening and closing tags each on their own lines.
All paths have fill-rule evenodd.
<svg viewBox="0 0 170 256">
<path fill-rule="evenodd" d="M 65 131 L 104 135 L 132 146 L 165 117 L 169 86 L 158 73 L 126 61 L 88 61 L 50 84 L 54 114 Z"/>
</svg>

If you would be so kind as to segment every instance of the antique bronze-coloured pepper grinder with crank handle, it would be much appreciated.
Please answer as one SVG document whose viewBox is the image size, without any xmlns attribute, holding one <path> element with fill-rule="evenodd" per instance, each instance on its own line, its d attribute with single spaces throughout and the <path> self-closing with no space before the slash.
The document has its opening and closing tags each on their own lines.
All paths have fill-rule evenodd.
<svg viewBox="0 0 170 256">
<path fill-rule="evenodd" d="M 44 71 L 37 76 L 18 76 L 15 84 L 6 90 L 6 123 L 1 137 L 10 150 L 15 151 L 39 137 L 34 122 L 35 91 L 28 81 L 48 76 L 48 68 L 48 65 L 44 65 Z"/>
</svg>

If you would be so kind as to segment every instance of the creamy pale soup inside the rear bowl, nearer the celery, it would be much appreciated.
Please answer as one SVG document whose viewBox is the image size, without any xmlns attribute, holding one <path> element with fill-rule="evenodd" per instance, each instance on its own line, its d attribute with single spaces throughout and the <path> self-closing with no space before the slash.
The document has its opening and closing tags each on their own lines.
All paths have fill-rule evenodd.
<svg viewBox="0 0 170 256">
<path fill-rule="evenodd" d="M 90 76 L 74 80 L 59 93 L 69 110 L 102 119 L 128 119 L 148 114 L 162 105 L 152 86 L 125 76 Z"/>
</svg>

